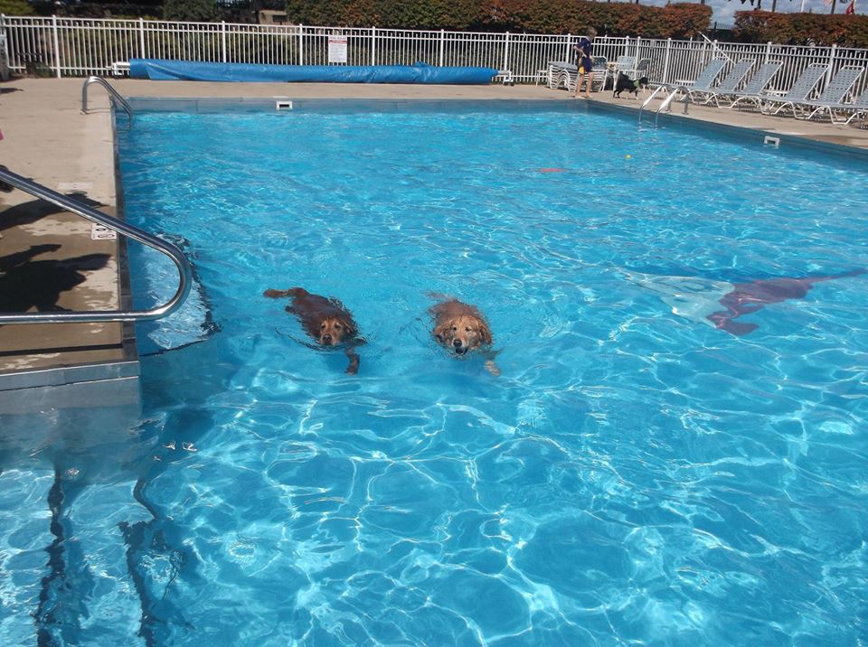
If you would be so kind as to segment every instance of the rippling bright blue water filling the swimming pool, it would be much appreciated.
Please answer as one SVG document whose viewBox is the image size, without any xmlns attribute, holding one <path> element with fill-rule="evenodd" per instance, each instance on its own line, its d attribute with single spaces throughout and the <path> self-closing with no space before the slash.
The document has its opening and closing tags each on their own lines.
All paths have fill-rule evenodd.
<svg viewBox="0 0 868 647">
<path fill-rule="evenodd" d="M 868 640 L 868 275 L 705 317 L 868 267 L 864 164 L 582 110 L 137 116 L 127 218 L 201 298 L 139 330 L 180 348 L 135 425 L 4 465 L 5 643 Z M 357 376 L 291 286 L 353 311 Z"/>
</svg>

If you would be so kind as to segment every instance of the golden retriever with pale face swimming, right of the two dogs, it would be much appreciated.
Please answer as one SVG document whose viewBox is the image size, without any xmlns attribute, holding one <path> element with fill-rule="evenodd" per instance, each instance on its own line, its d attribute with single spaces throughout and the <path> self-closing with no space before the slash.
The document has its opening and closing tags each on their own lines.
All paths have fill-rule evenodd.
<svg viewBox="0 0 868 647">
<path fill-rule="evenodd" d="M 500 375 L 491 352 L 491 328 L 475 306 L 450 298 L 432 305 L 428 312 L 434 319 L 434 339 L 441 346 L 458 356 L 480 351 L 486 357 L 488 372 Z"/>
</svg>

